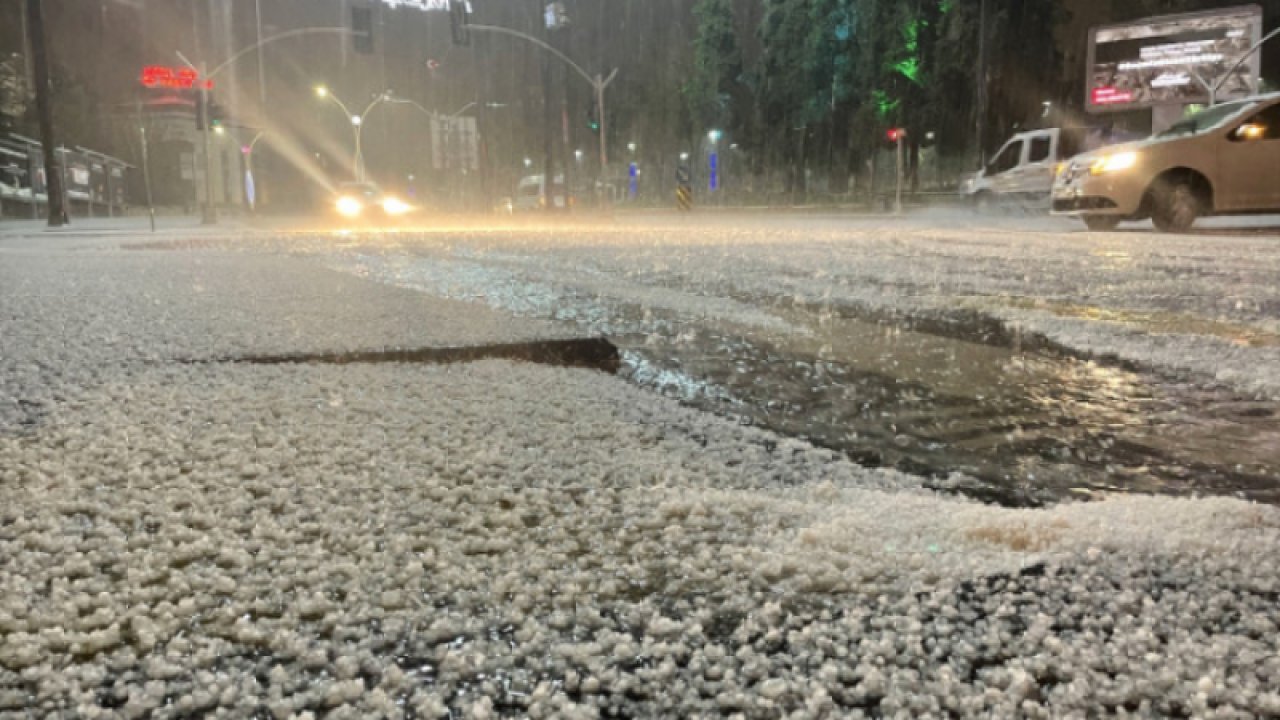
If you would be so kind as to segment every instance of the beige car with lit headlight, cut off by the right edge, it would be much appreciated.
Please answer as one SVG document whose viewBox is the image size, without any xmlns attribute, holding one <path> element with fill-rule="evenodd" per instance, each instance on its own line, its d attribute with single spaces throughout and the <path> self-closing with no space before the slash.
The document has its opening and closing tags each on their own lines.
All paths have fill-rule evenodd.
<svg viewBox="0 0 1280 720">
<path fill-rule="evenodd" d="M 1092 231 L 1149 218 L 1164 232 L 1206 215 L 1280 211 L 1280 94 L 1215 105 L 1140 142 L 1073 158 L 1053 181 L 1052 210 Z"/>
</svg>

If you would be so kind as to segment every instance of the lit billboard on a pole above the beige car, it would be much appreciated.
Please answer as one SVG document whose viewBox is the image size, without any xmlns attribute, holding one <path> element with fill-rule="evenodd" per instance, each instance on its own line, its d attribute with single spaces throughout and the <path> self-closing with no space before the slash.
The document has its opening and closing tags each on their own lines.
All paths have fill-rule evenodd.
<svg viewBox="0 0 1280 720">
<path fill-rule="evenodd" d="M 1228 70 L 1262 40 L 1262 8 L 1166 15 L 1089 31 L 1085 108 L 1091 113 L 1208 101 L 1257 92 L 1261 55 Z M 1197 76 L 1201 79 L 1197 79 Z M 1225 78 L 1225 79 L 1224 79 Z"/>
</svg>

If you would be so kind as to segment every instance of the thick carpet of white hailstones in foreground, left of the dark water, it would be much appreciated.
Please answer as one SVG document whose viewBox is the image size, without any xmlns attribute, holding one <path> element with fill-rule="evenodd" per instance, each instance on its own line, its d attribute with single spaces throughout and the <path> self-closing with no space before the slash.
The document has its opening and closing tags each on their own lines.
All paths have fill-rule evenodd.
<svg viewBox="0 0 1280 720">
<path fill-rule="evenodd" d="M 0 246 L 0 716 L 1280 712 L 1277 509 L 989 507 L 594 370 L 184 363 L 562 331 L 104 245 Z"/>
</svg>

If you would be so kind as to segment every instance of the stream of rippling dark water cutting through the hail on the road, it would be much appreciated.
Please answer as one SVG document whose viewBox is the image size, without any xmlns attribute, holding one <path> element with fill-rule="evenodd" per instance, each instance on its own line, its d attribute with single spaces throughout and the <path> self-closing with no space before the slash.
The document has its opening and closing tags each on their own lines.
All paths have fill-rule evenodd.
<svg viewBox="0 0 1280 720">
<path fill-rule="evenodd" d="M 977 314 L 872 322 L 758 300 L 781 322 L 733 323 L 526 279 L 511 266 L 410 256 L 338 265 L 573 323 L 609 337 L 637 384 L 940 487 L 963 473 L 978 484 L 959 489 L 984 500 L 1157 492 L 1280 502 L 1272 404 L 1021 343 Z"/>
</svg>

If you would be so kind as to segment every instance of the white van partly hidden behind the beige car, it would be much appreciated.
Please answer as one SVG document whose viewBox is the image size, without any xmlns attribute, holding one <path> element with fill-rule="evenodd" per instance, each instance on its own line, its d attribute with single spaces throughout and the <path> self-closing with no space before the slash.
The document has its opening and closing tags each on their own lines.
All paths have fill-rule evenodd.
<svg viewBox="0 0 1280 720">
<path fill-rule="evenodd" d="M 1059 163 L 1123 140 L 1100 128 L 1020 132 L 992 155 L 986 168 L 965 181 L 960 192 L 979 209 L 1002 204 L 1048 208 Z"/>
</svg>

